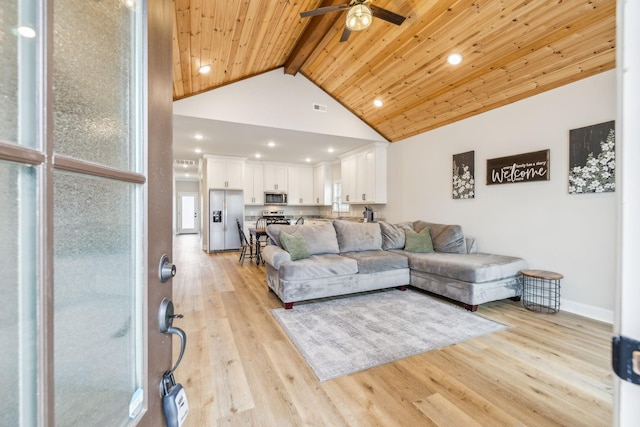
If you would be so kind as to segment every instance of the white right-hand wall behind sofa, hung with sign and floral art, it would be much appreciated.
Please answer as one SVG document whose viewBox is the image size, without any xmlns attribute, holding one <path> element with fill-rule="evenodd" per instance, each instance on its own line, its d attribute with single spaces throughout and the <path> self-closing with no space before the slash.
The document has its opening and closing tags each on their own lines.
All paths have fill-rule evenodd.
<svg viewBox="0 0 640 427">
<path fill-rule="evenodd" d="M 617 193 L 568 194 L 569 130 L 616 119 L 609 71 L 389 148 L 391 222 L 455 223 L 484 252 L 562 273 L 561 310 L 613 321 Z M 550 181 L 486 185 L 486 161 L 550 149 Z M 451 197 L 452 155 L 475 151 L 475 198 Z"/>
</svg>

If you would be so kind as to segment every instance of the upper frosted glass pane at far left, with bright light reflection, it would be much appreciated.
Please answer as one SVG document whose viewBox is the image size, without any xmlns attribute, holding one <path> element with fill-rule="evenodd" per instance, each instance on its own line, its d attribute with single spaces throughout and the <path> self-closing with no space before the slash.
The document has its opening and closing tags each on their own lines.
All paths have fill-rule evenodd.
<svg viewBox="0 0 640 427">
<path fill-rule="evenodd" d="M 36 144 L 36 2 L 2 1 L 0 13 L 0 141 Z"/>
</svg>

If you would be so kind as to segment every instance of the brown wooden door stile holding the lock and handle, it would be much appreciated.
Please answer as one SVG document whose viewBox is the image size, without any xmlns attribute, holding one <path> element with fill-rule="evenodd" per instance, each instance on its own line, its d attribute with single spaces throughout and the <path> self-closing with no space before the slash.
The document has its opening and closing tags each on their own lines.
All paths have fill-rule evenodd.
<svg viewBox="0 0 640 427">
<path fill-rule="evenodd" d="M 172 339 L 158 328 L 158 309 L 163 298 L 171 299 L 171 280 L 159 280 L 159 261 L 163 254 L 173 259 L 173 188 L 172 135 L 173 135 L 173 83 L 171 40 L 173 34 L 173 6 L 164 0 L 147 3 L 147 161 L 148 203 L 147 236 L 147 342 L 148 363 L 146 389 L 149 392 L 147 415 L 140 425 L 164 425 L 159 387 L 162 374 L 171 369 Z M 178 273 L 179 274 L 179 273 Z M 158 291 L 159 289 L 159 291 Z M 159 343 L 158 346 L 152 343 Z"/>
</svg>

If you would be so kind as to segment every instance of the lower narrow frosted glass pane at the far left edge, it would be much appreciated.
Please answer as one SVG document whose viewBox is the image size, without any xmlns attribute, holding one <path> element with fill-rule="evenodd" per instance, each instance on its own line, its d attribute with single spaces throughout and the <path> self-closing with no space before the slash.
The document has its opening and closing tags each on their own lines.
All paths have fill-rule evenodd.
<svg viewBox="0 0 640 427">
<path fill-rule="evenodd" d="M 2 426 L 36 425 L 35 178 L 30 166 L 0 161 Z"/>
</svg>

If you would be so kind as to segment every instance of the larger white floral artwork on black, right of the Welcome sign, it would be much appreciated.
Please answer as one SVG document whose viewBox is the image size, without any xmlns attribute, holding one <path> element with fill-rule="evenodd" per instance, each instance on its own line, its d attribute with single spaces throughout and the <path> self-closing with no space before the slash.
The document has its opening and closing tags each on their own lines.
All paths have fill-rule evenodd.
<svg viewBox="0 0 640 427">
<path fill-rule="evenodd" d="M 615 121 L 570 130 L 569 194 L 615 189 Z"/>
</svg>

